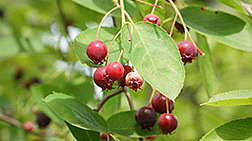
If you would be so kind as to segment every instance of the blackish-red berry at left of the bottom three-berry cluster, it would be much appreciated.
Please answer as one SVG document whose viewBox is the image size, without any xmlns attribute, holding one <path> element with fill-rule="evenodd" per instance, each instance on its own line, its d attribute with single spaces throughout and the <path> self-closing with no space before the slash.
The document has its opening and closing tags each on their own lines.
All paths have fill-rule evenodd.
<svg viewBox="0 0 252 141">
<path fill-rule="evenodd" d="M 142 129 L 150 129 L 157 121 L 157 115 L 152 107 L 142 107 L 136 112 L 136 122 Z"/>
</svg>

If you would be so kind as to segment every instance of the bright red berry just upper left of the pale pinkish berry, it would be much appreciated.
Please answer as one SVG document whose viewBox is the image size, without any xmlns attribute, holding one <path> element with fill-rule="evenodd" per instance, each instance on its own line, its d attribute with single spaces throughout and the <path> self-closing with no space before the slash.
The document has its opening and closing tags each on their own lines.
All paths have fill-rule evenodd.
<svg viewBox="0 0 252 141">
<path fill-rule="evenodd" d="M 123 77 L 124 68 L 123 65 L 114 61 L 110 62 L 106 67 L 106 75 L 109 79 L 115 81 Z"/>
</svg>

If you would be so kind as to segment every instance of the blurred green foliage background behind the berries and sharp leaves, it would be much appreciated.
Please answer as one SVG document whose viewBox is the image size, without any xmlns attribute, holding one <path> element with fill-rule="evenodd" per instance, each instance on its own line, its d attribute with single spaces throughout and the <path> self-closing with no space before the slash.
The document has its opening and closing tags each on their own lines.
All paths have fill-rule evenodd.
<svg viewBox="0 0 252 141">
<path fill-rule="evenodd" d="M 243 17 L 213 0 L 176 2 L 180 8 L 187 5 L 209 6 Z M 168 8 L 165 18 L 169 19 L 172 15 L 173 12 Z M 72 41 L 80 31 L 97 26 L 102 17 L 102 14 L 71 0 L 1 0 L 0 114 L 13 117 L 21 123 L 28 120 L 36 123 L 36 115 L 42 112 L 38 91 L 46 93 L 43 87 L 70 93 L 90 107 L 95 107 L 101 96 L 95 96 L 91 71 L 78 62 Z M 134 18 L 140 21 L 142 17 Z M 172 20 L 168 20 L 163 26 L 169 29 L 171 23 Z M 176 42 L 183 39 L 177 29 L 174 39 Z M 208 39 L 208 43 L 216 77 L 213 95 L 251 89 L 252 53 L 230 48 L 211 39 Z M 147 104 L 150 90 L 145 84 L 143 91 L 131 91 L 135 109 Z M 47 91 L 47 94 L 51 93 Z M 186 65 L 185 86 L 175 101 L 174 114 L 178 117 L 178 128 L 172 135 L 159 136 L 155 141 L 198 140 L 220 124 L 252 116 L 251 106 L 200 106 L 200 103 L 207 100 L 199 64 L 195 60 Z M 127 100 L 124 95 L 119 95 L 110 99 L 100 114 L 107 119 L 113 113 L 126 110 L 129 110 Z M 0 121 L 0 141 L 75 140 L 65 124 L 55 119 L 45 129 L 36 125 L 36 132 L 46 134 L 43 137 L 27 134 L 22 129 Z M 122 141 L 137 140 L 119 138 Z"/>
</svg>

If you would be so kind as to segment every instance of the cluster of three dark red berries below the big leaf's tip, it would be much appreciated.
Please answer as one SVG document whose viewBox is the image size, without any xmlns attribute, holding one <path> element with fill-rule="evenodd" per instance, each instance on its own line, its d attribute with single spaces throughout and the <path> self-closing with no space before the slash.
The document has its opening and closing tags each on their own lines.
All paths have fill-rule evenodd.
<svg viewBox="0 0 252 141">
<path fill-rule="evenodd" d="M 168 100 L 168 105 L 166 105 Z M 174 102 L 166 98 L 161 93 L 157 93 L 151 101 L 152 107 L 144 106 L 136 112 L 136 122 L 142 129 L 149 129 L 153 127 L 157 121 L 156 112 L 162 115 L 158 119 L 158 125 L 163 134 L 168 134 L 177 128 L 177 118 L 175 115 L 170 114 L 174 110 Z M 166 108 L 169 107 L 169 112 Z"/>
</svg>

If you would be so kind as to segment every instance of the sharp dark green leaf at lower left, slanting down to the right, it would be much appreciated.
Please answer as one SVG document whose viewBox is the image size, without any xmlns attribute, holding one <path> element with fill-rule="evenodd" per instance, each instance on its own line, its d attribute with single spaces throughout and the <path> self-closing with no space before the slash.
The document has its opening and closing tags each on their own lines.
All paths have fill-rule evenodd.
<svg viewBox="0 0 252 141">
<path fill-rule="evenodd" d="M 88 106 L 73 97 L 54 93 L 44 101 L 61 119 L 85 130 L 107 132 L 106 121 Z"/>
</svg>

